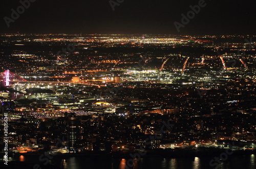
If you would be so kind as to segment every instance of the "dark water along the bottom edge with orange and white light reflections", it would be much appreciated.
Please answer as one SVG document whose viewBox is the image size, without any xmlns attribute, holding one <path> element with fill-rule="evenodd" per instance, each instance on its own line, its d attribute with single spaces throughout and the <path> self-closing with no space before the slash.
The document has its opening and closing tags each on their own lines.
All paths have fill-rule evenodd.
<svg viewBox="0 0 256 169">
<path fill-rule="evenodd" d="M 14 158 L 17 161 L 33 162 L 43 165 L 39 161 L 39 155 L 24 155 Z M 161 158 L 161 157 L 146 157 L 135 161 L 134 167 L 129 168 L 145 168 L 145 169 L 189 169 L 189 168 L 216 168 L 217 165 L 210 166 L 209 162 L 214 159 L 212 157 L 195 157 L 195 158 Z M 124 169 L 126 160 L 118 159 L 108 156 L 76 156 L 63 157 L 53 156 L 50 160 L 52 165 L 65 169 L 92 169 L 92 168 L 110 168 L 110 169 Z M 45 161 L 44 161 L 45 162 Z M 214 162 L 215 163 L 215 162 Z M 232 169 L 255 169 L 256 155 L 237 155 L 229 156 L 227 160 L 219 164 L 217 168 L 232 168 Z"/>
</svg>

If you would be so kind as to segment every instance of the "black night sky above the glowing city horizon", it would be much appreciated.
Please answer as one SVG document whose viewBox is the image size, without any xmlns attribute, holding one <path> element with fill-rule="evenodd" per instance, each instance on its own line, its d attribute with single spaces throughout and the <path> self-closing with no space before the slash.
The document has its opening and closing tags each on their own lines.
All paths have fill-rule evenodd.
<svg viewBox="0 0 256 169">
<path fill-rule="evenodd" d="M 23 0 L 22 0 L 23 1 Z M 32 0 L 31 0 L 32 1 Z M 34 1 L 34 0 L 33 0 Z M 113 0 L 122 2 L 122 0 Z M 206 6 L 177 32 L 189 0 L 124 0 L 115 11 L 109 0 L 36 0 L 8 28 L 4 17 L 19 1 L 1 1 L 1 33 L 254 35 L 255 1 L 205 0 Z"/>
</svg>

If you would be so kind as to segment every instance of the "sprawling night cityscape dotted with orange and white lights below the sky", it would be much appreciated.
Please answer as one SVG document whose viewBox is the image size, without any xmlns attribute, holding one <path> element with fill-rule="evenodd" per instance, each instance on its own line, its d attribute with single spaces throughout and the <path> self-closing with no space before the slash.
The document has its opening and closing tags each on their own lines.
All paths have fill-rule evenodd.
<svg viewBox="0 0 256 169">
<path fill-rule="evenodd" d="M 179 158 L 194 169 L 255 166 L 255 36 L 0 38 L 8 165 L 142 168 L 155 157 L 148 168 L 180 168 Z"/>
</svg>

